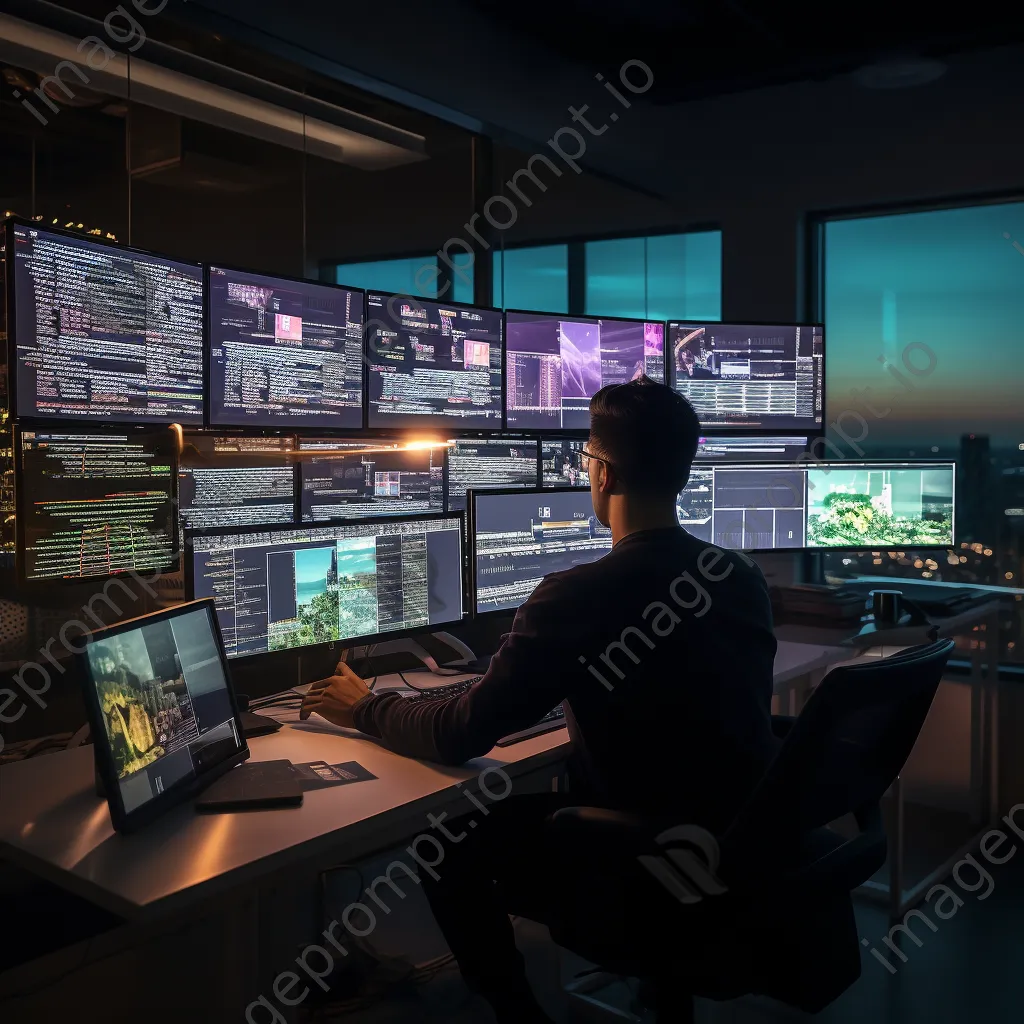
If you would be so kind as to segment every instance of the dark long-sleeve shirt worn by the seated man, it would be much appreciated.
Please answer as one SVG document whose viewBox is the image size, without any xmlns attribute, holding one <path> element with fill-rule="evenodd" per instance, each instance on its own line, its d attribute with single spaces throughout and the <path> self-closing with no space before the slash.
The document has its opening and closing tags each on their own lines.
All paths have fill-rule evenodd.
<svg viewBox="0 0 1024 1024">
<path fill-rule="evenodd" d="M 564 701 L 581 800 L 724 827 L 774 755 L 775 657 L 761 570 L 681 528 L 546 577 L 483 678 L 449 699 L 371 694 L 356 727 L 461 764 Z"/>
</svg>

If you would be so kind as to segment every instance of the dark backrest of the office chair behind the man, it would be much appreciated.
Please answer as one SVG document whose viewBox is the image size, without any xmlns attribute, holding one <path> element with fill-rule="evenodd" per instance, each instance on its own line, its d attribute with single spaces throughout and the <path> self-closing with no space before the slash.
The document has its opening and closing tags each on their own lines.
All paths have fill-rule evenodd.
<svg viewBox="0 0 1024 1024">
<path fill-rule="evenodd" d="M 952 640 L 834 669 L 722 838 L 723 861 L 786 858 L 800 837 L 881 801 L 906 764 Z M 766 865 L 767 866 L 767 865 Z"/>
</svg>

